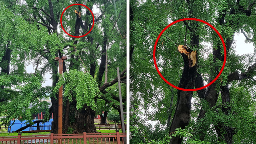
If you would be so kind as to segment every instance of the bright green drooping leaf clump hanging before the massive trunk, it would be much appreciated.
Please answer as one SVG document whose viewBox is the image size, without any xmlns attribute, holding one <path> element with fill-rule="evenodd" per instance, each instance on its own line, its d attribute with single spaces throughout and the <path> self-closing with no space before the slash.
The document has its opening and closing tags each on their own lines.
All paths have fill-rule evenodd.
<svg viewBox="0 0 256 144">
<path fill-rule="evenodd" d="M 82 109 L 84 104 L 96 110 L 95 98 L 100 96 L 100 91 L 98 89 L 98 83 L 88 72 L 84 73 L 78 70 L 65 72 L 56 84 L 54 92 L 58 92 L 58 89 L 63 84 L 65 85 L 64 96 L 70 102 L 75 98 L 76 108 L 78 110 Z"/>
</svg>

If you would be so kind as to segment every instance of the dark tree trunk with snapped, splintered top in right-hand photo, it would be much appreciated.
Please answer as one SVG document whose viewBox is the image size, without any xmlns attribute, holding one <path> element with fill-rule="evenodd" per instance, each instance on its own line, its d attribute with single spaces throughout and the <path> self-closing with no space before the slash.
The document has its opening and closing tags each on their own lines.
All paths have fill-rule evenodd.
<svg viewBox="0 0 256 144">
<path fill-rule="evenodd" d="M 193 89 L 196 79 L 196 52 L 182 45 L 178 47 L 178 50 L 184 60 L 184 69 L 178 87 Z M 175 132 L 176 128 L 184 129 L 185 126 L 188 126 L 192 94 L 193 92 L 190 91 L 178 90 L 176 111 L 170 126 L 169 133 Z M 182 137 L 180 136 L 172 137 L 170 139 L 170 144 L 181 144 L 181 142 Z"/>
</svg>

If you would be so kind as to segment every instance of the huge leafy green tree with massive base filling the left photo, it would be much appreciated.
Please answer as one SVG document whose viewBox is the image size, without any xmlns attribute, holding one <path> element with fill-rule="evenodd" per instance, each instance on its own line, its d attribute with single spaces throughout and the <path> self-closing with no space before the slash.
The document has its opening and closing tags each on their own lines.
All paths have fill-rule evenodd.
<svg viewBox="0 0 256 144">
<path fill-rule="evenodd" d="M 95 17 L 92 31 L 76 39 L 65 34 L 60 28 L 62 11 L 74 3 L 88 6 L 94 12 Z M 81 16 L 78 16 L 74 10 L 81 12 Z M 90 96 L 84 95 L 86 93 L 79 93 L 84 89 L 75 91 L 66 81 L 66 88 L 71 89 L 65 90 L 64 86 L 66 96 L 64 95 L 63 101 L 63 132 L 67 132 L 68 128 L 72 128 L 73 132 L 84 130 L 89 133 L 97 132 L 94 126 L 97 100 L 105 100 L 105 104 L 110 106 L 115 104 L 114 107 L 118 108 L 119 98 L 112 90 L 112 87 L 117 86 L 116 67 L 119 66 L 122 70 L 121 80 L 126 79 L 125 10 L 126 4 L 122 0 L 110 2 L 94 0 L 2 1 L 0 112 L 6 115 L 6 118 L 1 121 L 9 124 L 13 118 L 20 117 L 22 120 L 32 120 L 34 111 L 41 110 L 36 105 L 38 104 L 44 108 L 48 116 L 54 114 L 53 130 L 57 133 L 58 92 L 52 90 L 58 82 L 58 63 L 54 61 L 54 58 L 67 56 L 68 60 L 63 64 L 63 71 L 67 77 L 70 76 L 69 82 L 75 84 L 73 88 L 85 88 L 77 78 L 89 80 L 91 78 L 88 74 L 90 74 L 97 82 L 96 86 L 100 95 Z M 72 6 L 64 12 L 62 22 L 69 34 L 80 36 L 92 28 L 92 15 L 83 6 Z M 106 50 L 107 47 L 108 50 Z M 107 60 L 106 53 L 108 53 Z M 108 77 L 107 82 L 104 83 L 102 79 L 104 79 L 106 62 L 108 63 Z M 27 64 L 34 65 L 34 74 L 26 72 Z M 52 84 L 44 87 L 42 83 L 47 72 L 52 75 Z M 122 87 L 126 86 L 122 84 Z M 52 101 L 50 109 L 46 109 L 46 105 L 40 102 L 48 94 Z M 126 95 L 123 96 L 125 100 Z M 22 103 L 18 104 L 17 98 L 22 99 Z M 85 100 L 90 100 L 92 105 L 86 103 Z M 20 108 L 16 114 L 10 113 L 15 110 L 14 103 Z M 28 108 L 30 104 L 35 108 Z M 48 118 L 45 119 L 47 120 Z"/>
</svg>

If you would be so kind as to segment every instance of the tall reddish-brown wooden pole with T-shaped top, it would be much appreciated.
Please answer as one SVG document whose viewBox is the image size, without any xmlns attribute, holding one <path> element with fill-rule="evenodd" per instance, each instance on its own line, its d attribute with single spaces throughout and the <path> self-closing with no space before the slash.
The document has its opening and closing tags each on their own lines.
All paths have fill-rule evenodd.
<svg viewBox="0 0 256 144">
<path fill-rule="evenodd" d="M 63 71 L 63 61 L 66 60 L 66 56 L 62 56 L 62 58 L 56 57 L 55 60 L 59 61 L 59 73 L 62 75 Z M 62 134 L 62 86 L 59 88 L 59 107 L 58 107 L 58 134 Z M 58 142 L 61 144 L 61 140 Z"/>
</svg>

